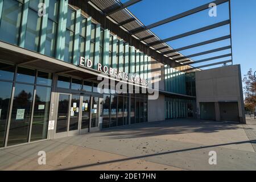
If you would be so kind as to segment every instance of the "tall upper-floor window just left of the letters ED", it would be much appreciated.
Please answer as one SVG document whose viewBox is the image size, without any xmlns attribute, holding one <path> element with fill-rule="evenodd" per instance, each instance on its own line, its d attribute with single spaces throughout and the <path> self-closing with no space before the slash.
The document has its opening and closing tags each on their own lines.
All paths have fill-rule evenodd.
<svg viewBox="0 0 256 182">
<path fill-rule="evenodd" d="M 75 18 L 76 18 L 76 12 L 71 8 L 69 8 L 68 15 L 67 15 L 67 29 L 65 33 L 65 52 L 64 52 L 64 61 L 67 61 L 68 63 L 73 62 Z"/>
</svg>

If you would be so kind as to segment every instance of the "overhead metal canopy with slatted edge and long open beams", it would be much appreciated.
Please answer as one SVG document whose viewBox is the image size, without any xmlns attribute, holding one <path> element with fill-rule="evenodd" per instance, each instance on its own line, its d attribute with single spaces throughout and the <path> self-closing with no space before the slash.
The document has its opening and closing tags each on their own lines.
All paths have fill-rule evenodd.
<svg viewBox="0 0 256 182">
<path fill-rule="evenodd" d="M 186 71 L 204 68 L 209 65 L 216 65 L 217 63 L 202 65 L 202 66 L 196 67 L 196 68 L 192 67 L 191 65 L 195 64 L 195 63 L 199 63 L 199 61 L 200 61 L 200 63 L 203 63 L 204 61 L 207 61 L 207 60 L 214 60 L 213 58 L 216 58 L 219 56 L 210 57 L 209 59 L 204 59 L 203 61 L 202 60 L 193 61 L 193 60 L 191 60 L 191 57 L 207 55 L 209 53 L 224 51 L 227 49 L 230 49 L 230 51 L 231 51 L 231 53 L 229 55 L 232 57 L 231 62 L 233 64 L 230 0 L 216 0 L 216 1 L 210 2 L 210 3 L 215 3 L 216 5 L 221 5 L 223 3 L 228 2 L 229 3 L 229 19 L 227 19 L 223 22 L 210 24 L 209 26 L 201 27 L 201 28 L 198 28 L 193 31 L 185 32 L 184 34 L 172 36 L 170 38 L 163 39 L 163 40 L 161 40 L 158 36 L 156 36 L 150 29 L 152 29 L 154 27 L 162 26 L 163 24 L 173 22 L 177 19 L 181 19 L 181 18 L 184 18 L 184 17 L 192 15 L 192 14 L 199 13 L 200 11 L 207 10 L 207 9 L 209 9 L 210 3 L 201 5 L 194 9 L 171 16 L 170 18 L 160 20 L 159 22 L 152 23 L 148 26 L 144 26 L 144 24 L 141 21 L 139 21 L 129 10 L 126 9 L 127 7 L 129 7 L 131 5 L 135 5 L 135 3 L 138 3 L 141 1 L 142 0 L 130 0 L 125 3 L 121 3 L 119 0 L 108 0 L 108 1 L 104 1 L 104 3 L 103 3 L 102 0 L 90 0 L 90 3 L 93 4 L 94 6 L 96 6 L 98 9 L 100 9 L 101 12 L 103 14 L 105 14 L 105 16 L 107 18 L 114 20 L 114 22 L 118 26 L 120 26 L 124 30 L 126 30 L 127 33 L 130 34 L 130 36 L 134 36 L 139 41 L 141 41 L 143 44 L 146 44 L 149 48 L 162 53 L 162 55 L 164 55 L 165 57 L 168 57 L 168 59 L 170 59 L 170 63 L 168 63 L 168 61 L 164 61 L 164 64 L 172 65 L 172 63 L 175 61 L 176 63 L 180 63 L 180 66 L 186 65 L 188 67 L 188 69 L 186 69 Z M 169 46 L 167 44 L 167 42 L 169 43 L 172 40 L 184 38 L 186 36 L 190 36 L 190 35 L 194 35 L 194 34 L 199 34 L 204 31 L 212 30 L 213 28 L 225 26 L 226 24 L 229 24 L 229 29 L 230 29 L 229 35 L 221 36 L 219 38 L 210 39 L 210 40 L 207 40 L 204 42 L 199 42 L 199 43 L 195 43 L 192 45 L 188 45 L 188 46 L 184 46 L 184 47 L 176 48 L 176 49 L 173 49 L 171 46 Z M 188 26 L 188 25 L 186 24 L 185 26 Z M 191 49 L 191 48 L 195 48 L 195 47 L 199 47 L 199 46 L 204 46 L 204 45 L 207 45 L 210 43 L 216 43 L 216 42 L 220 42 L 221 40 L 226 40 L 226 39 L 230 39 L 229 46 L 215 48 L 215 49 L 212 49 L 209 51 L 204 51 L 204 52 L 199 52 L 199 53 L 193 53 L 193 54 L 187 55 L 187 56 L 179 53 L 179 51 L 183 51 L 185 49 Z M 222 62 L 218 62 L 218 64 L 226 64 L 226 62 L 225 63 L 222 63 Z M 227 63 L 229 63 L 229 62 L 230 61 L 228 61 Z"/>
</svg>

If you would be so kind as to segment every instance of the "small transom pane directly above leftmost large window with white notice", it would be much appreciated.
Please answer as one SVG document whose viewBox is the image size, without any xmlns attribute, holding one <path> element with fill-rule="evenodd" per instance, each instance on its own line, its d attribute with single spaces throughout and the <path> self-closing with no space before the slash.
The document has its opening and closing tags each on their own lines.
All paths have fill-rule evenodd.
<svg viewBox="0 0 256 182">
<path fill-rule="evenodd" d="M 18 67 L 16 81 L 35 84 L 35 70 Z"/>
</svg>

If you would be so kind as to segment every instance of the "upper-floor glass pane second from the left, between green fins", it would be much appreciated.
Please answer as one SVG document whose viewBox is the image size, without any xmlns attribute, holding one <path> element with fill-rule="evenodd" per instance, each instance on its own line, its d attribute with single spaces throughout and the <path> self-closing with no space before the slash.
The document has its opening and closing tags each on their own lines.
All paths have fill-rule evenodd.
<svg viewBox="0 0 256 182">
<path fill-rule="evenodd" d="M 28 9 L 28 17 L 25 47 L 32 51 L 38 51 L 42 18 L 31 9 Z"/>
</svg>

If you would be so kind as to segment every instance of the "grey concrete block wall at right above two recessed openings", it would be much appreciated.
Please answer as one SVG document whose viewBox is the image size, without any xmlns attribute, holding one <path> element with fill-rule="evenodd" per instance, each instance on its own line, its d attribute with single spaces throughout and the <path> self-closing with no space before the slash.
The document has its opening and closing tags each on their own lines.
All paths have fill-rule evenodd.
<svg viewBox="0 0 256 182">
<path fill-rule="evenodd" d="M 240 65 L 196 72 L 197 117 L 200 102 L 214 102 L 216 120 L 220 121 L 219 102 L 238 102 L 240 122 L 245 123 Z"/>
</svg>

